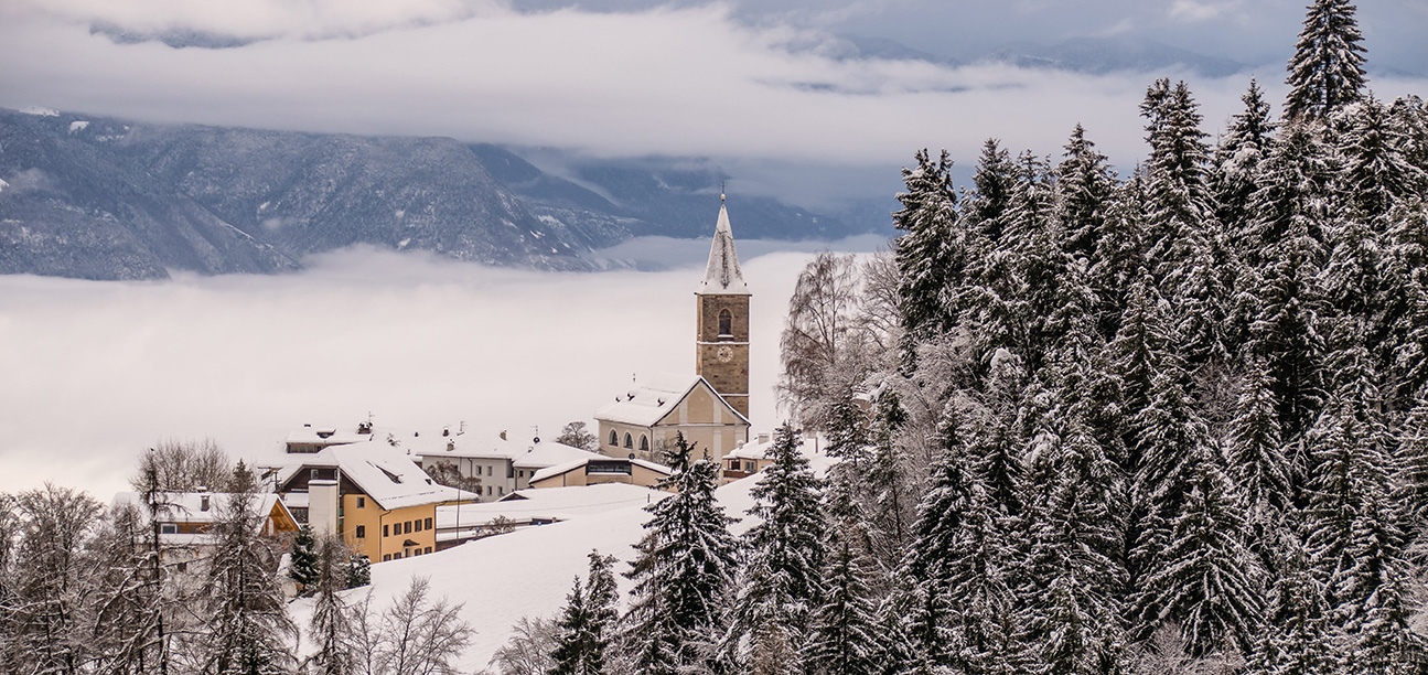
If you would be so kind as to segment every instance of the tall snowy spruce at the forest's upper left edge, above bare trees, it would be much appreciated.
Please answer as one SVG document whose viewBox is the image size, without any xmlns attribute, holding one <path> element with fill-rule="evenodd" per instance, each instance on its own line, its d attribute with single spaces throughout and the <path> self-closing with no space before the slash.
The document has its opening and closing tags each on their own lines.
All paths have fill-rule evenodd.
<svg viewBox="0 0 1428 675">
<path fill-rule="evenodd" d="M 925 340 L 941 334 L 950 324 L 945 290 L 955 278 L 964 255 L 957 251 L 957 191 L 952 188 L 947 151 L 934 163 L 927 150 L 917 153 L 917 168 L 902 170 L 905 193 L 898 193 L 902 210 L 892 214 L 892 225 L 902 230 L 894 251 L 898 264 L 898 310 L 907 340 Z M 904 345 L 904 365 L 911 367 L 915 352 Z"/>
</svg>

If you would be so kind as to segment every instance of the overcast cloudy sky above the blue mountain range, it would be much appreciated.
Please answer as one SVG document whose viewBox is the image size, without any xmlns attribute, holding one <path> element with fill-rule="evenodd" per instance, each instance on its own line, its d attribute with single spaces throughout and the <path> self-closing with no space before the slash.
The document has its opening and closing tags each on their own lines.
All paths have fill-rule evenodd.
<svg viewBox="0 0 1428 675">
<path fill-rule="evenodd" d="M 848 59 L 850 36 L 974 60 L 1001 44 L 1158 40 L 1251 66 L 1185 74 L 1207 131 L 1257 74 L 1282 97 L 1301 0 L 4 0 L 0 106 L 157 121 L 440 134 L 603 156 L 895 168 L 981 140 L 1060 153 L 1075 123 L 1122 170 L 1158 76 Z M 1428 3 L 1364 3 L 1382 97 L 1428 91 Z M 201 34 L 231 49 L 139 40 Z M 127 36 L 114 40 L 107 36 Z M 1414 74 L 1417 73 L 1417 74 Z M 885 190 L 880 184 L 878 190 Z M 840 186 L 840 191 L 847 190 Z"/>
</svg>

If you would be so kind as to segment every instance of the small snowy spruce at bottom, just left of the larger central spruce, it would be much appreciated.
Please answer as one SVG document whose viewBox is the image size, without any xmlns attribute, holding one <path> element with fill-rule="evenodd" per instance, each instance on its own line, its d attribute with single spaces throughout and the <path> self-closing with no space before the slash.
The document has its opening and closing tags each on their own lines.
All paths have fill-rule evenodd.
<svg viewBox="0 0 1428 675">
<path fill-rule="evenodd" d="M 590 577 L 584 588 L 577 578 L 565 608 L 555 619 L 555 649 L 551 675 L 604 675 L 605 649 L 618 618 L 615 578 L 611 572 L 614 557 L 590 552 Z"/>
</svg>

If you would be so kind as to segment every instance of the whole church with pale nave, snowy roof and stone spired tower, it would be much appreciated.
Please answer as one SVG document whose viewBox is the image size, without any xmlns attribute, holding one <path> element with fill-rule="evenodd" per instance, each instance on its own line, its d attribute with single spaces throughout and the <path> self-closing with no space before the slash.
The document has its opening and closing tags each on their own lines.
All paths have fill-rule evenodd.
<svg viewBox="0 0 1428 675">
<path fill-rule="evenodd" d="M 658 460 L 675 434 L 721 461 L 748 441 L 748 284 L 720 196 L 704 280 L 694 291 L 693 375 L 654 375 L 595 412 L 600 451 Z"/>
</svg>

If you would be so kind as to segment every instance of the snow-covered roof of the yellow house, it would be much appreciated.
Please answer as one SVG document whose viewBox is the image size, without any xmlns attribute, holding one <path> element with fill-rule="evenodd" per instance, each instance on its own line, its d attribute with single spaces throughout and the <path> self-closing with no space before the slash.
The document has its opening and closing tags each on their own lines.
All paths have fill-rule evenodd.
<svg viewBox="0 0 1428 675">
<path fill-rule="evenodd" d="M 480 498 L 473 492 L 438 485 L 403 450 L 394 448 L 387 441 L 331 445 L 311 455 L 293 457 L 301 457 L 301 460 L 284 468 L 278 477 L 278 485 L 286 484 L 304 468 L 337 468 L 344 478 L 387 511 L 418 504 Z"/>
</svg>

